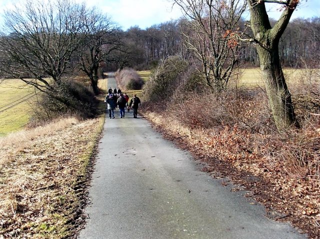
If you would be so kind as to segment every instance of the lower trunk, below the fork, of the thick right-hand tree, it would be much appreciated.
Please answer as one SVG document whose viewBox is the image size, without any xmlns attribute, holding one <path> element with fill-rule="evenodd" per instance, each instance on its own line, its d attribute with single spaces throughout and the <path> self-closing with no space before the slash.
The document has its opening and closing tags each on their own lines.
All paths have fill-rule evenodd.
<svg viewBox="0 0 320 239">
<path fill-rule="evenodd" d="M 258 45 L 257 52 L 269 106 L 277 129 L 297 126 L 291 94 L 286 86 L 279 61 L 278 46 L 267 49 Z"/>
</svg>

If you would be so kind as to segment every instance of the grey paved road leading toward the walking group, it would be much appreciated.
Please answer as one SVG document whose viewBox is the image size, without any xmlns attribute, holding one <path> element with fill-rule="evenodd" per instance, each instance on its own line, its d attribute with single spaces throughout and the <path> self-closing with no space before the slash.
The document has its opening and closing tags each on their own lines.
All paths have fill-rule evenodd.
<svg viewBox="0 0 320 239">
<path fill-rule="evenodd" d="M 187 152 L 131 113 L 106 118 L 95 170 L 80 239 L 306 238 L 199 171 Z"/>
</svg>

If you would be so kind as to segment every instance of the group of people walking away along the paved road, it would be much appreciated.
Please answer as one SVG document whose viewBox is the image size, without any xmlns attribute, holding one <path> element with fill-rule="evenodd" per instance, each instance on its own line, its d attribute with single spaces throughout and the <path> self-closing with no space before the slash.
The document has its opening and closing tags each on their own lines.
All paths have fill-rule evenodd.
<svg viewBox="0 0 320 239">
<path fill-rule="evenodd" d="M 138 107 L 141 104 L 136 94 L 133 95 L 129 102 L 129 96 L 126 93 L 122 94 L 121 90 L 116 90 L 116 88 L 112 91 L 111 87 L 108 89 L 108 94 L 105 96 L 104 102 L 106 103 L 106 109 L 109 111 L 110 119 L 114 119 L 114 110 L 116 107 L 119 107 L 120 118 L 124 118 L 125 109 L 129 112 L 130 108 L 133 110 L 133 118 L 137 118 Z"/>
</svg>

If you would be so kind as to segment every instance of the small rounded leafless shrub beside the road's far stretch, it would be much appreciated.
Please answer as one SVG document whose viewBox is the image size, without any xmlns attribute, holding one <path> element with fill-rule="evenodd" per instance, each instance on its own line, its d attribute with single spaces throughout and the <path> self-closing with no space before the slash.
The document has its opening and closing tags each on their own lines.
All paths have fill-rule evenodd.
<svg viewBox="0 0 320 239">
<path fill-rule="evenodd" d="M 127 90 L 140 90 L 144 83 L 136 71 L 131 68 L 117 70 L 114 76 L 118 85 Z"/>
</svg>

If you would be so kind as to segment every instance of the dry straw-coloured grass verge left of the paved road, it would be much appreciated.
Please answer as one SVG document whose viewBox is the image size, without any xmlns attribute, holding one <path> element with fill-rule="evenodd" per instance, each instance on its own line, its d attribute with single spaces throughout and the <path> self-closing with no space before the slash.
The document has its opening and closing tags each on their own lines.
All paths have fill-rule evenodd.
<svg viewBox="0 0 320 239">
<path fill-rule="evenodd" d="M 0 149 L 1 159 L 6 158 L 0 169 L 3 238 L 73 235 L 80 224 L 81 184 L 103 122 L 103 117 L 71 120 Z"/>
</svg>

